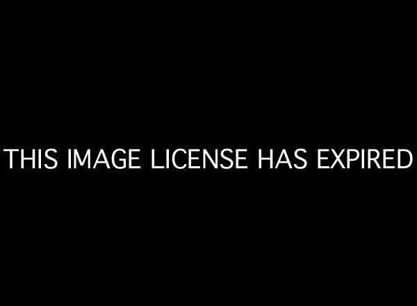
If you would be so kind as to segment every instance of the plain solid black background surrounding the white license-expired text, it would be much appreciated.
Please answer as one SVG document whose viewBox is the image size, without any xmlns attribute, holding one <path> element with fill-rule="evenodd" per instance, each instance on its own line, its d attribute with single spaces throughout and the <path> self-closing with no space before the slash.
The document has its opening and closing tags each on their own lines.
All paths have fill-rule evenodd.
<svg viewBox="0 0 417 306">
<path fill-rule="evenodd" d="M 1 148 L 247 147 L 251 169 L 3 167 L 8 287 L 117 300 L 407 291 L 415 166 L 320 171 L 315 152 L 415 154 L 411 19 L 172 9 L 20 8 L 2 38 Z M 297 147 L 311 154 L 304 171 L 252 161 Z"/>
</svg>

